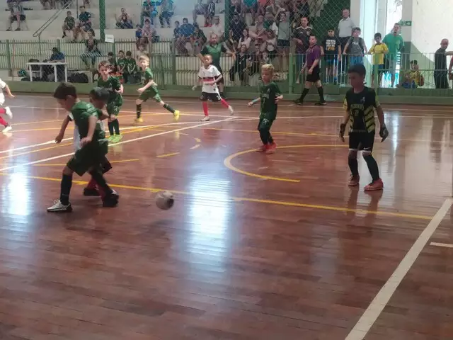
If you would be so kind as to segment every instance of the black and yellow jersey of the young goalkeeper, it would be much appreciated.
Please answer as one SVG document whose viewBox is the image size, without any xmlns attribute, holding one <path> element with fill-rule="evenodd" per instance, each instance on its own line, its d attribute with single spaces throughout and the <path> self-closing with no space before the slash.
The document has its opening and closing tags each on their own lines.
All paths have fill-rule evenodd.
<svg viewBox="0 0 453 340">
<path fill-rule="evenodd" d="M 350 113 L 350 132 L 374 132 L 374 108 L 381 106 L 374 89 L 365 86 L 359 94 L 350 89 L 346 93 L 343 108 Z"/>
</svg>

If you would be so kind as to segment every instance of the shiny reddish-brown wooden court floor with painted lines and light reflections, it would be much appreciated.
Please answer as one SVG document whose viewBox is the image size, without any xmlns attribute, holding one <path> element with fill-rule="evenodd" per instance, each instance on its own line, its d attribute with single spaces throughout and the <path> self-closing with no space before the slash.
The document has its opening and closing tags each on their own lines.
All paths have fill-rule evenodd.
<svg viewBox="0 0 453 340">
<path fill-rule="evenodd" d="M 50 215 L 72 152 L 50 96 L 7 99 L 0 135 L 0 339 L 453 339 L 453 110 L 389 106 L 374 155 L 384 192 L 347 186 L 338 103 L 283 103 L 277 153 L 259 154 L 258 108 L 199 102 L 120 114 L 110 147 L 117 208 L 85 198 Z M 172 210 L 156 192 L 175 194 Z"/>
</svg>

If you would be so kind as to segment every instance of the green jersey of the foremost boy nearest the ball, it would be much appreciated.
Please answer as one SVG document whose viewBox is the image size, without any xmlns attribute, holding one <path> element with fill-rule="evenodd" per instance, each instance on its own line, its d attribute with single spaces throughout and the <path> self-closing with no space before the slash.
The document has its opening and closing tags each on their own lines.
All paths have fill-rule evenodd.
<svg viewBox="0 0 453 340">
<path fill-rule="evenodd" d="M 91 105 L 91 103 L 86 103 L 86 101 L 79 101 L 78 103 L 74 104 L 74 106 L 71 108 L 70 117 L 73 118 L 74 124 L 79 130 L 80 138 L 84 138 L 86 137 L 86 135 L 88 135 L 88 122 L 91 116 L 99 118 L 99 114 L 100 113 L 98 109 Z M 105 132 L 101 128 L 101 124 L 98 122 L 96 123 L 96 129 L 94 130 L 92 143 L 99 145 L 103 142 L 105 142 Z"/>
</svg>

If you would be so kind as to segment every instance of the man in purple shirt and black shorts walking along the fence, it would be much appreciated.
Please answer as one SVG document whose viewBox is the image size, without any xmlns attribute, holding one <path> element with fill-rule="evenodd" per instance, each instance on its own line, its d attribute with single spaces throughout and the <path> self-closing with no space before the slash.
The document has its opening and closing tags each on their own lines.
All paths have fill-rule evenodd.
<svg viewBox="0 0 453 340">
<path fill-rule="evenodd" d="M 300 95 L 300 98 L 295 100 L 294 103 L 297 105 L 304 104 L 304 98 L 309 93 L 311 86 L 316 85 L 319 93 L 319 101 L 315 105 L 326 105 L 326 100 L 324 99 L 324 90 L 323 84 L 321 84 L 321 74 L 319 72 L 319 60 L 321 59 L 321 48 L 316 45 L 316 36 L 310 35 L 310 46 L 306 50 L 305 64 L 301 70 L 301 73 L 306 71 L 305 87 L 304 91 Z"/>
</svg>

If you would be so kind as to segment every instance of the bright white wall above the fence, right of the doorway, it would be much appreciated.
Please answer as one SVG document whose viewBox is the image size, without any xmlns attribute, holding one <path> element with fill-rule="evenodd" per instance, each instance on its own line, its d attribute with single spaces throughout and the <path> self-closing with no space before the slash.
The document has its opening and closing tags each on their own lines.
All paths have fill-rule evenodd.
<svg viewBox="0 0 453 340">
<path fill-rule="evenodd" d="M 405 19 L 406 9 L 411 8 L 411 18 Z M 452 31 L 453 0 L 404 0 L 403 20 L 412 20 L 411 28 L 403 28 L 404 39 L 411 42 L 420 52 L 434 53 L 440 47 L 440 40 L 448 38 L 453 42 Z M 406 36 L 407 31 L 410 36 Z M 449 50 L 453 47 L 450 45 Z M 431 58 L 430 58 L 431 59 Z"/>
</svg>

